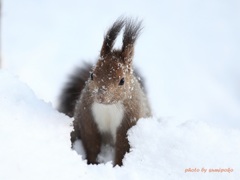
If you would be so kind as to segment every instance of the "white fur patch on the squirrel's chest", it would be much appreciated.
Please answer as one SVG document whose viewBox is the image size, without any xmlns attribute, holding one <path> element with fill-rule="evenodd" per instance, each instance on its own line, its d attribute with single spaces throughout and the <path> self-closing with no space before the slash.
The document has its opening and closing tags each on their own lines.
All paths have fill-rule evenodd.
<svg viewBox="0 0 240 180">
<path fill-rule="evenodd" d="M 95 102 L 92 104 L 92 113 L 99 131 L 110 133 L 115 141 L 117 128 L 124 115 L 123 105 L 121 103 L 105 105 Z"/>
</svg>

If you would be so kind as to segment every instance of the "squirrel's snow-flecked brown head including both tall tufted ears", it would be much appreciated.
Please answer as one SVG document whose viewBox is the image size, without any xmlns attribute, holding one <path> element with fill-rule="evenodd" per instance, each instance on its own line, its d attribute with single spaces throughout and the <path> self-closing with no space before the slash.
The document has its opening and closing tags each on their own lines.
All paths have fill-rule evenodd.
<svg viewBox="0 0 240 180">
<path fill-rule="evenodd" d="M 125 27 L 121 49 L 113 49 L 117 35 Z M 141 31 L 141 22 L 131 19 L 118 19 L 104 37 L 100 58 L 93 68 L 89 88 L 94 101 L 114 104 L 126 98 L 131 99 L 135 78 L 132 60 L 134 44 Z"/>
</svg>

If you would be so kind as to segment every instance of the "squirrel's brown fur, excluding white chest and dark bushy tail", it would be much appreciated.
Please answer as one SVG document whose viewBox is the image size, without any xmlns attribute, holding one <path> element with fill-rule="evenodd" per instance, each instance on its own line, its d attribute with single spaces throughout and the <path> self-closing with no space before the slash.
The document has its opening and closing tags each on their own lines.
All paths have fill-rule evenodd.
<svg viewBox="0 0 240 180">
<path fill-rule="evenodd" d="M 113 50 L 118 33 L 125 26 L 123 46 Z M 97 164 L 101 144 L 108 142 L 109 135 L 100 132 L 92 114 L 94 102 L 110 105 L 120 103 L 124 116 L 116 131 L 114 165 L 122 165 L 122 159 L 129 152 L 127 131 L 139 118 L 151 116 L 150 106 L 141 84 L 133 73 L 132 60 L 134 44 L 141 31 L 141 22 L 118 19 L 105 35 L 100 58 L 92 70 L 92 75 L 81 90 L 74 111 L 74 131 L 71 141 L 83 142 L 88 164 Z M 124 78 L 124 84 L 121 81 Z M 110 138 L 111 139 L 111 138 Z"/>
</svg>

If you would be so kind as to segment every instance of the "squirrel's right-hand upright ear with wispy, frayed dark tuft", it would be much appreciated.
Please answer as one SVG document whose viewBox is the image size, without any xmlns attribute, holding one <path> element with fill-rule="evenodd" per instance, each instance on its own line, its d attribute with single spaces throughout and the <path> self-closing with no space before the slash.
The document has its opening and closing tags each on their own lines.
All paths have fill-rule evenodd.
<svg viewBox="0 0 240 180">
<path fill-rule="evenodd" d="M 132 62 L 134 44 L 142 30 L 142 21 L 128 19 L 123 33 L 122 55 L 125 62 Z"/>
</svg>

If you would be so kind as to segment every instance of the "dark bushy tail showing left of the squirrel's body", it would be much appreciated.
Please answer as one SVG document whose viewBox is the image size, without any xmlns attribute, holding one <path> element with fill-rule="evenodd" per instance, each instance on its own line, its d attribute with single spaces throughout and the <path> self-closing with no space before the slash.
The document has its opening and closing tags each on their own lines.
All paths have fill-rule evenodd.
<svg viewBox="0 0 240 180">
<path fill-rule="evenodd" d="M 85 86 L 85 82 L 89 78 L 92 64 L 84 63 L 78 67 L 64 85 L 58 98 L 58 111 L 69 117 L 74 116 L 75 104 Z"/>
</svg>

